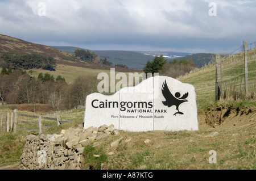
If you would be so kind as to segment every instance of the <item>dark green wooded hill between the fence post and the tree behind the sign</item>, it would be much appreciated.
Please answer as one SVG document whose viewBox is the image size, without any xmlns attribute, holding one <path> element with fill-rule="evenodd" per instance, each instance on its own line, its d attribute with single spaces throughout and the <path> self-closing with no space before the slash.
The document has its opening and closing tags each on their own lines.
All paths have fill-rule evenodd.
<svg viewBox="0 0 256 181">
<path fill-rule="evenodd" d="M 195 53 L 185 57 L 175 58 L 179 60 L 192 60 L 195 66 L 201 68 L 203 65 L 208 64 L 209 62 L 215 61 L 215 54 L 213 53 Z"/>
</svg>

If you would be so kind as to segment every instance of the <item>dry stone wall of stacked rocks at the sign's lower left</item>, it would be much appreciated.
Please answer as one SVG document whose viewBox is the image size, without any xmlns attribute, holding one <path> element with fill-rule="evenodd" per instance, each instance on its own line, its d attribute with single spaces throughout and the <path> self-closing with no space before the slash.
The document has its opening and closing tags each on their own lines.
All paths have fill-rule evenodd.
<svg viewBox="0 0 256 181">
<path fill-rule="evenodd" d="M 100 128 L 68 128 L 60 134 L 28 135 L 20 156 L 22 170 L 80 170 L 85 146 L 95 140 L 119 134 L 113 125 Z"/>
</svg>

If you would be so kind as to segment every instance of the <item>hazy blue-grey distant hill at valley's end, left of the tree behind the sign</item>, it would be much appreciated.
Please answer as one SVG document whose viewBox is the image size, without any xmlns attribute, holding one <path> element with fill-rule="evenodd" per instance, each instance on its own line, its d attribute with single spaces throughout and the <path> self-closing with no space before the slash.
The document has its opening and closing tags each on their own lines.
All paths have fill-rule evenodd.
<svg viewBox="0 0 256 181">
<path fill-rule="evenodd" d="M 59 46 L 51 47 L 71 54 L 73 54 L 77 48 Z M 154 56 L 125 50 L 90 50 L 90 52 L 95 52 L 101 58 L 106 57 L 108 61 L 113 63 L 113 65 L 127 65 L 129 69 L 143 69 L 148 60 L 152 61 L 154 59 Z"/>
</svg>

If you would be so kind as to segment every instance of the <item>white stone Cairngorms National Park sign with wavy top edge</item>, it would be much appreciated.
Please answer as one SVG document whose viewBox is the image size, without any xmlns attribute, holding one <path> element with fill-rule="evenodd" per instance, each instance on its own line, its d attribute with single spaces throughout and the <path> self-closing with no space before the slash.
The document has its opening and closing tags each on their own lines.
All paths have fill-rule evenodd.
<svg viewBox="0 0 256 181">
<path fill-rule="evenodd" d="M 131 132 L 197 131 L 195 88 L 174 78 L 155 76 L 110 96 L 88 95 L 84 128 L 104 124 Z"/>
</svg>

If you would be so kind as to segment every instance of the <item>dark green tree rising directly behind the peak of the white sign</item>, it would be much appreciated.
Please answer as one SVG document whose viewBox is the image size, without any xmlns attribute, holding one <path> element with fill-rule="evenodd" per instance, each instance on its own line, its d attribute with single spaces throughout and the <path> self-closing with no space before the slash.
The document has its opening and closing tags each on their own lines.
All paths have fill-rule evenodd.
<svg viewBox="0 0 256 181">
<path fill-rule="evenodd" d="M 151 61 L 147 61 L 146 66 L 144 66 L 144 73 L 158 73 L 164 64 L 166 64 L 166 59 L 163 57 L 163 55 L 159 56 L 155 56 L 154 60 Z"/>
</svg>

